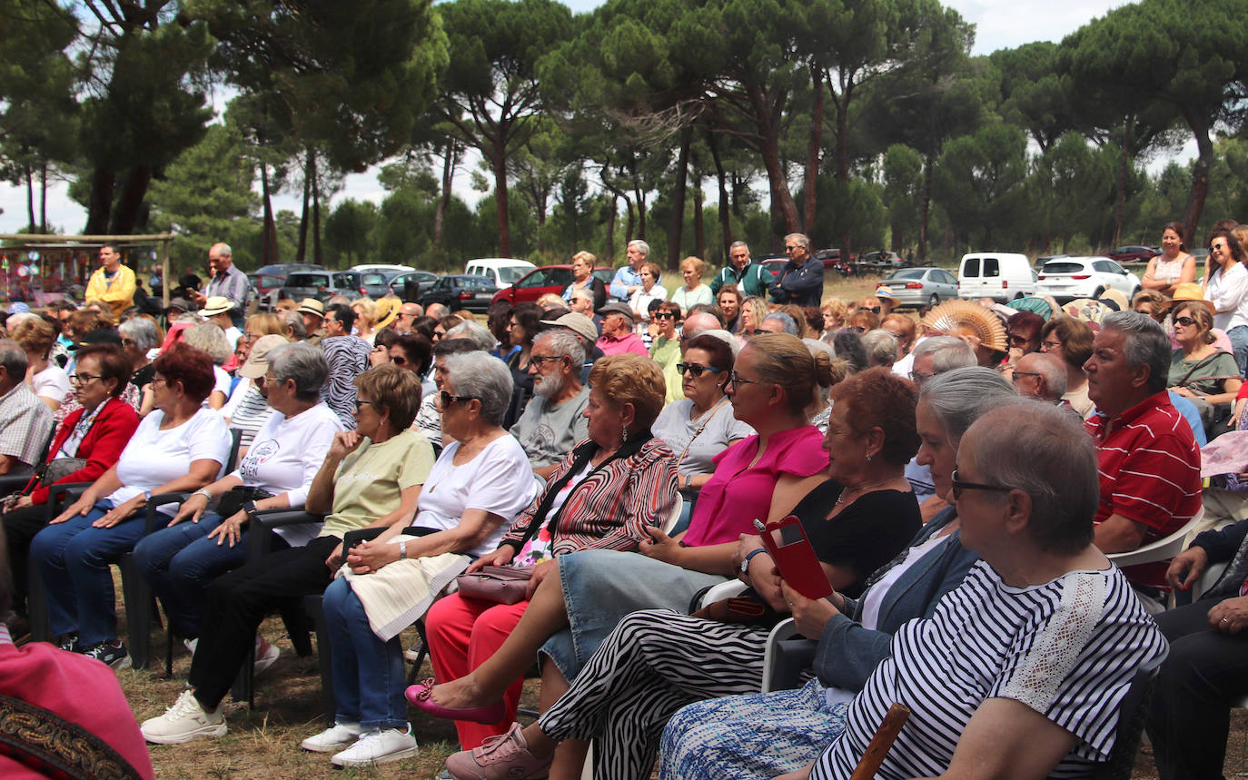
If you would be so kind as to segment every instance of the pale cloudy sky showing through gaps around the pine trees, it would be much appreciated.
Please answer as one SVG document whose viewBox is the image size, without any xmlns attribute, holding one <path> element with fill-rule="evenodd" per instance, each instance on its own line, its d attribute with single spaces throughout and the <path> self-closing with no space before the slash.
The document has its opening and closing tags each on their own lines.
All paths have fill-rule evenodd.
<svg viewBox="0 0 1248 780">
<path fill-rule="evenodd" d="M 990 54 L 997 49 L 1015 47 L 1036 40 L 1060 41 L 1085 22 L 1123 5 L 1121 0 L 943 0 L 946 6 L 958 10 L 962 16 L 976 25 L 973 54 Z M 574 12 L 583 12 L 600 5 L 594 0 L 564 0 Z M 1186 151 L 1186 150 L 1184 150 Z M 457 192 L 466 200 L 479 197 L 467 188 L 468 176 L 463 172 L 457 178 Z M 258 186 L 258 185 L 257 185 Z M 346 187 L 336 197 L 342 200 L 369 200 L 381 202 L 384 191 L 378 186 L 372 172 L 347 176 Z M 39 216 L 37 190 L 35 193 L 35 216 Z M 278 210 L 298 210 L 295 196 L 283 195 L 275 198 Z M 26 190 L 0 183 L 0 233 L 11 233 L 26 225 Z M 86 223 L 86 211 L 69 200 L 64 185 L 49 187 L 49 223 L 62 232 L 74 233 Z"/>
</svg>

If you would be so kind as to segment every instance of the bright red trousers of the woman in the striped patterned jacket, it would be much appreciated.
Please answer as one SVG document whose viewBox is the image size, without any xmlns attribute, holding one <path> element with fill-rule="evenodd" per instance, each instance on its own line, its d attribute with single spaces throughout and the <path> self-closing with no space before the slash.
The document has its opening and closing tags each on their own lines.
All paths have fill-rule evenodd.
<svg viewBox="0 0 1248 780">
<path fill-rule="evenodd" d="M 495 604 L 478 599 L 464 599 L 458 593 L 438 599 L 424 618 L 424 635 L 429 640 L 429 655 L 433 659 L 433 674 L 439 683 L 457 680 L 493 655 L 512 629 L 520 622 L 520 615 L 528 608 L 528 602 L 518 604 Z M 515 720 L 515 710 L 520 705 L 520 689 L 524 676 L 517 678 L 507 689 L 504 701 L 507 713 L 503 720 L 494 725 L 456 721 L 459 733 L 459 748 L 472 750 L 489 736 L 507 734 Z"/>
</svg>

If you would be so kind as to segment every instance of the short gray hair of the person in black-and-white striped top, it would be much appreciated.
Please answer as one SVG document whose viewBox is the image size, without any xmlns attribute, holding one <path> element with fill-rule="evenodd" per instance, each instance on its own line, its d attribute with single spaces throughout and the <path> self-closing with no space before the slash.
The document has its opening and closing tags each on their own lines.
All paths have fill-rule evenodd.
<svg viewBox="0 0 1248 780">
<path fill-rule="evenodd" d="M 1041 550 L 1072 554 L 1092 544 L 1099 500 L 1096 448 L 1073 414 L 1017 399 L 985 412 L 968 433 L 983 480 L 1031 498 L 1027 535 Z M 992 493 L 1006 500 L 1006 493 Z"/>
</svg>

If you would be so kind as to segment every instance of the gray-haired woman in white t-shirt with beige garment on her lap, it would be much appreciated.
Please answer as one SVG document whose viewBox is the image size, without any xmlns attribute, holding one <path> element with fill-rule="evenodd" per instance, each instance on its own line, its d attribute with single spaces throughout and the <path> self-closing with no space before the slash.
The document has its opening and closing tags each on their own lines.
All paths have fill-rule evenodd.
<svg viewBox="0 0 1248 780">
<path fill-rule="evenodd" d="M 347 748 L 333 756 L 337 766 L 416 754 L 398 634 L 474 557 L 498 547 L 537 494 L 524 451 L 500 426 L 512 398 L 510 371 L 484 352 L 448 356 L 446 363 L 442 427 L 454 441 L 424 480 L 416 517 L 349 550 L 339 579 L 324 592 L 333 688 L 348 691 L 349 704 L 310 743 L 326 751 Z M 361 729 L 367 743 L 352 744 L 348 733 Z"/>
</svg>

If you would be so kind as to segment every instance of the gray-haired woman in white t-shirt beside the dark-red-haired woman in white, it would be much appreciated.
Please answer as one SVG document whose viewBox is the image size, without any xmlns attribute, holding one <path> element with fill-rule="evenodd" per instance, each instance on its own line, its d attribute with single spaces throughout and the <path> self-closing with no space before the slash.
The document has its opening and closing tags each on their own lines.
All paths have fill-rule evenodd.
<svg viewBox="0 0 1248 780">
<path fill-rule="evenodd" d="M 282 344 L 266 358 L 258 382 L 273 414 L 256 433 L 247 457 L 230 474 L 196 490 L 167 528 L 135 547 L 135 564 L 165 604 L 173 630 L 186 638 L 200 635 L 208 584 L 246 560 L 248 518 L 263 509 L 302 507 L 333 436 L 343 429 L 321 401 L 329 366 L 319 349 Z M 218 503 L 207 512 L 211 502 Z M 276 533 L 287 545 L 300 547 L 318 530 L 302 524 Z M 261 646 L 261 656 L 265 653 L 273 650 Z"/>
</svg>

